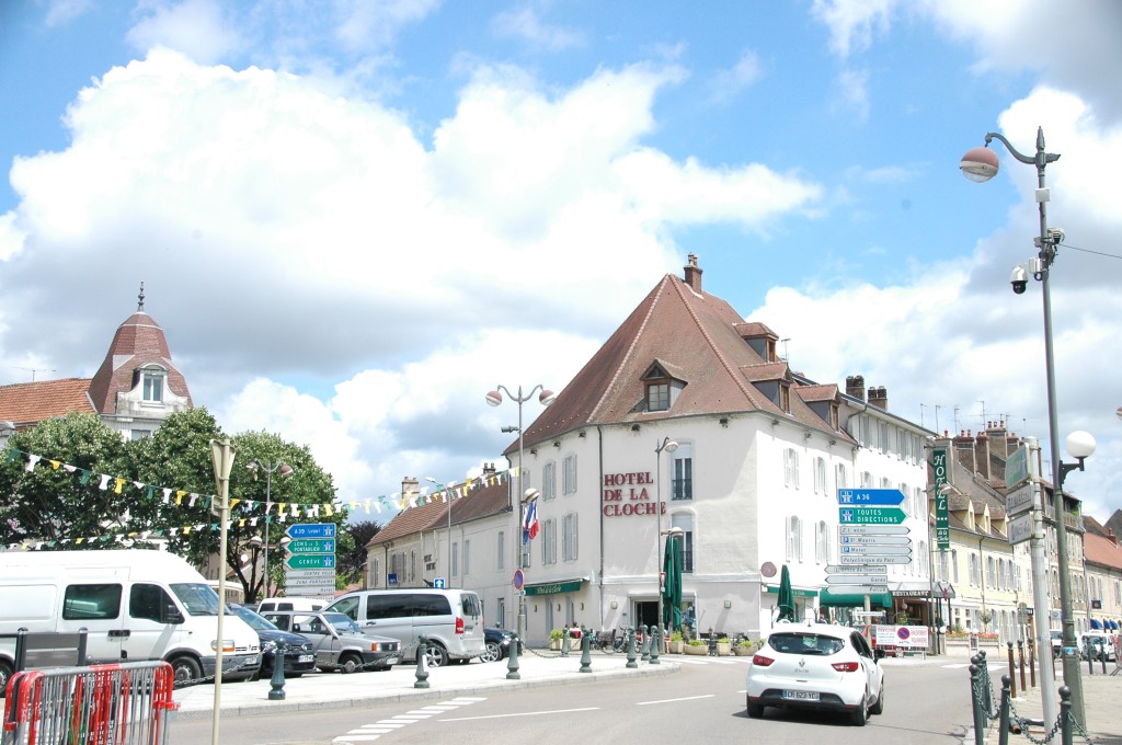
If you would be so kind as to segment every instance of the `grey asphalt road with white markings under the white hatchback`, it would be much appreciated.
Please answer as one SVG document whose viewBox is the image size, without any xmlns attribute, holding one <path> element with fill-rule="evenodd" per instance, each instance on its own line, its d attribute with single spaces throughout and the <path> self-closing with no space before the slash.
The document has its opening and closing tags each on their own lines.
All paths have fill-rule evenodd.
<svg viewBox="0 0 1122 745">
<path fill-rule="evenodd" d="M 964 665 L 886 669 L 885 711 L 866 727 L 845 717 L 744 710 L 746 663 L 683 665 L 670 675 L 519 689 L 431 702 L 371 702 L 367 708 L 260 717 L 223 717 L 223 743 L 310 745 L 374 743 L 525 743 L 589 745 L 766 742 L 822 745 L 957 745 L 969 721 Z M 392 674 L 397 674 L 393 671 Z M 174 745 L 210 743 L 205 719 L 173 721 Z"/>
</svg>

